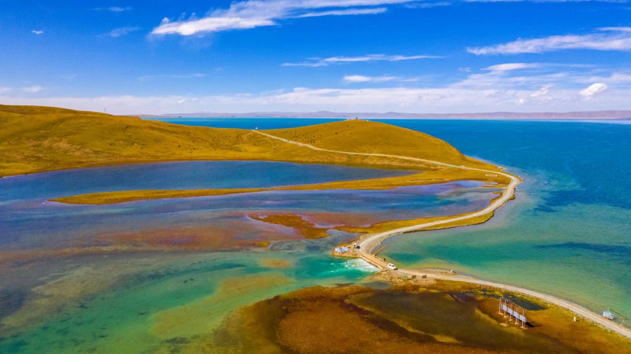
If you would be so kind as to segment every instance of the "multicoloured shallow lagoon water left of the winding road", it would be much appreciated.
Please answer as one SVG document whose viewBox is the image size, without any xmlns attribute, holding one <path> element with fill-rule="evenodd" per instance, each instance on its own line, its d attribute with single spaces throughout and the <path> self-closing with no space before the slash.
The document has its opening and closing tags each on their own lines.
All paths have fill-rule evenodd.
<svg viewBox="0 0 631 354">
<path fill-rule="evenodd" d="M 117 205 L 50 198 L 138 188 L 243 188 L 405 171 L 257 161 L 132 164 L 0 180 L 0 352 L 142 353 L 211 331 L 232 309 L 372 267 L 329 256 L 367 226 L 469 212 L 493 189 L 462 181 L 393 190 L 266 191 Z M 252 219 L 298 214 L 331 237 Z M 276 241 L 256 248 L 257 241 Z M 228 251 L 230 250 L 230 251 Z"/>
</svg>

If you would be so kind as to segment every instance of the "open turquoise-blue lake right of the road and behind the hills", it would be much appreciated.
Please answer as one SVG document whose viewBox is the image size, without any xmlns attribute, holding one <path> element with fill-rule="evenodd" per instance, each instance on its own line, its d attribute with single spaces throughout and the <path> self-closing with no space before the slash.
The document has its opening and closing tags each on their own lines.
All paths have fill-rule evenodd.
<svg viewBox="0 0 631 354">
<path fill-rule="evenodd" d="M 187 125 L 295 127 L 334 119 L 208 119 Z M 631 316 L 631 122 L 403 120 L 525 182 L 482 226 L 395 237 L 403 265 L 457 269 Z"/>
</svg>

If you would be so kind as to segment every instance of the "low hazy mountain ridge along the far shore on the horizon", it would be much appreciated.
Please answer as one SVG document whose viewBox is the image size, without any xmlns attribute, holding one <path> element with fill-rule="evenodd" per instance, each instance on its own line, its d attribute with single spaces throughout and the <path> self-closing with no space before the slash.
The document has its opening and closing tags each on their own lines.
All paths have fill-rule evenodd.
<svg viewBox="0 0 631 354">
<path fill-rule="evenodd" d="M 155 118 L 425 118 L 425 119 L 579 119 L 579 120 L 618 120 L 631 119 L 631 110 L 610 110 L 610 111 L 574 111 L 574 112 L 486 112 L 486 113 L 339 113 L 332 111 L 317 112 L 245 112 L 245 113 L 169 113 L 163 115 L 133 115 L 134 117 L 155 117 Z"/>
</svg>

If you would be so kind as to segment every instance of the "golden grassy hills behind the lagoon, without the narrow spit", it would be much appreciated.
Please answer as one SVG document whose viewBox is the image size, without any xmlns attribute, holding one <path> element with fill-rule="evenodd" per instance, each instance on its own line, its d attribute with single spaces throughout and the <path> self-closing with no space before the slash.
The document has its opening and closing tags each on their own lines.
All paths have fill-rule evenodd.
<svg viewBox="0 0 631 354">
<path fill-rule="evenodd" d="M 0 124 L 0 177 L 105 164 L 230 159 L 440 169 L 401 159 L 314 151 L 251 130 L 189 127 L 63 108 L 0 105 Z M 384 123 L 345 121 L 267 132 L 326 149 L 494 168 L 440 139 Z"/>
</svg>

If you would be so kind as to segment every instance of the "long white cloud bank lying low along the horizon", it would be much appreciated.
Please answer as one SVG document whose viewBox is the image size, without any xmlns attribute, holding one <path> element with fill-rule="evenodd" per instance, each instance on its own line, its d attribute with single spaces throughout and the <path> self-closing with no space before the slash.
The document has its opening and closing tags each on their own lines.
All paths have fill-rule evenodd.
<svg viewBox="0 0 631 354">
<path fill-rule="evenodd" d="M 295 88 L 291 91 L 214 96 L 9 97 L 9 105 L 62 106 L 80 110 L 127 113 L 194 111 L 401 111 L 449 113 L 471 111 L 575 111 L 628 109 L 628 90 L 608 90 L 592 100 L 576 89 L 558 88 L 531 98 L 531 88 Z M 590 96 L 591 97 L 591 96 Z M 544 99 L 545 98 L 545 99 Z M 519 105 L 520 100 L 523 103 Z"/>
</svg>

